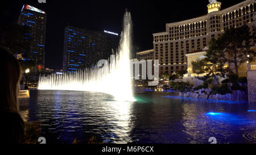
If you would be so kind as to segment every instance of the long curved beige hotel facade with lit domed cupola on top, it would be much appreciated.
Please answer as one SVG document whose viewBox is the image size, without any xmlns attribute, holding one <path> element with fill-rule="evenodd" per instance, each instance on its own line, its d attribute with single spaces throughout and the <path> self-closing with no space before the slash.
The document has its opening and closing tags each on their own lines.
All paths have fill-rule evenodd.
<svg viewBox="0 0 256 155">
<path fill-rule="evenodd" d="M 159 60 L 159 74 L 187 70 L 185 54 L 204 49 L 210 39 L 217 39 L 228 28 L 247 24 L 251 35 L 256 36 L 252 24 L 256 11 L 255 0 L 243 1 L 224 10 L 221 10 L 221 2 L 212 0 L 207 8 L 207 15 L 167 23 L 166 32 L 153 33 L 154 60 Z"/>
</svg>

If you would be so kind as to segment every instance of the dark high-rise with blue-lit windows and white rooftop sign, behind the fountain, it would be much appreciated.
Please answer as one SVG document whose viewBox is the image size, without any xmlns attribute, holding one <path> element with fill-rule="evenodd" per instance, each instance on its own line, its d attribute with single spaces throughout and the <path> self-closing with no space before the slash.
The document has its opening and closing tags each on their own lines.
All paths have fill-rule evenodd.
<svg viewBox="0 0 256 155">
<path fill-rule="evenodd" d="M 118 48 L 118 43 L 117 33 L 68 25 L 64 35 L 63 70 L 76 72 L 97 65 L 98 60 L 108 60 L 112 49 L 116 51 Z"/>
</svg>

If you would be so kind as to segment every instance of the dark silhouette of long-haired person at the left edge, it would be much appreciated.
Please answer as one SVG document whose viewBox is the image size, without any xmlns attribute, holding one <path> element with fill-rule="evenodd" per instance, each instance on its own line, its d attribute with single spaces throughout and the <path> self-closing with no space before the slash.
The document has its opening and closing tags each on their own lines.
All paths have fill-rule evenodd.
<svg viewBox="0 0 256 155">
<path fill-rule="evenodd" d="M 16 58 L 6 49 L 0 48 L 1 66 L 1 143 L 22 143 L 24 122 L 19 115 L 18 93 L 19 81 L 22 77 L 22 68 Z"/>
</svg>

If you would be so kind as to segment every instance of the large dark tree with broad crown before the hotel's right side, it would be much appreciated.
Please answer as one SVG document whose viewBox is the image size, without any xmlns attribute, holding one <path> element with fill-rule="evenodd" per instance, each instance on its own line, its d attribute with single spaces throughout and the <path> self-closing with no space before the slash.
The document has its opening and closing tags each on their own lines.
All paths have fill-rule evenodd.
<svg viewBox="0 0 256 155">
<path fill-rule="evenodd" d="M 230 28 L 218 40 L 213 40 L 215 44 L 210 44 L 207 56 L 214 59 L 219 64 L 234 64 L 236 74 L 238 75 L 238 67 L 246 61 L 254 61 L 256 52 L 250 49 L 250 41 L 253 35 L 250 35 L 247 25 L 238 28 Z M 232 69 L 229 68 L 229 73 Z"/>
</svg>

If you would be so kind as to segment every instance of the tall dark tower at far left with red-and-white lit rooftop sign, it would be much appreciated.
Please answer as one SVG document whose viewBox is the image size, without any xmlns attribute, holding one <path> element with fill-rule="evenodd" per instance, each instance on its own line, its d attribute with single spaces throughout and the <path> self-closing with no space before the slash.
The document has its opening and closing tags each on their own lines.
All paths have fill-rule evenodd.
<svg viewBox="0 0 256 155">
<path fill-rule="evenodd" d="M 30 40 L 28 51 L 21 51 L 23 61 L 32 60 L 31 73 L 38 73 L 44 68 L 46 41 L 46 12 L 30 5 L 24 5 L 19 15 L 18 23 L 31 27 L 31 33 L 25 33 L 24 39 Z"/>
</svg>

